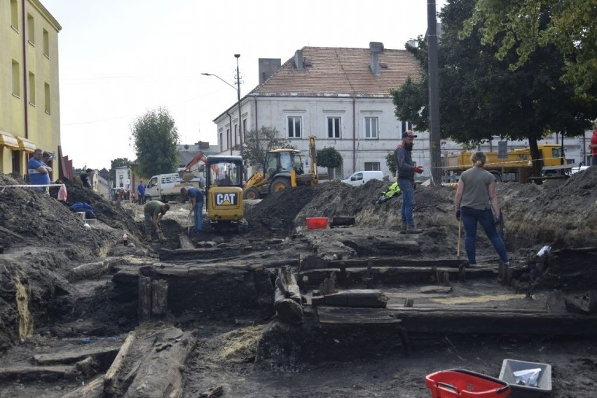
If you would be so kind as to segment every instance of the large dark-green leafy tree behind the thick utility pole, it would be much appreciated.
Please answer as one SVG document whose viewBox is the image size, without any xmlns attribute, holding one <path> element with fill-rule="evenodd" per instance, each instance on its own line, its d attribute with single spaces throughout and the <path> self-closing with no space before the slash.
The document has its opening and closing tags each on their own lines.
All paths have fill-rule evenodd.
<svg viewBox="0 0 597 398">
<path fill-rule="evenodd" d="M 462 24 L 472 15 L 474 3 L 448 0 L 441 12 L 441 137 L 461 143 L 479 143 L 496 135 L 502 139 L 528 139 L 531 156 L 537 160 L 538 139 L 551 132 L 568 136 L 584 133 L 594 111 L 589 102 L 575 97 L 572 85 L 561 81 L 563 57 L 558 48 L 538 48 L 526 64 L 515 71 L 509 69 L 514 55 L 498 60 L 497 46 L 482 45 L 478 28 L 460 39 Z M 418 121 L 418 130 L 427 127 L 426 57 L 420 53 L 426 53 L 426 47 L 423 38 L 418 39 L 417 47 L 407 47 L 422 63 L 420 83 L 405 84 L 392 92 L 397 116 Z M 419 119 L 413 116 L 416 109 Z M 534 165 L 538 175 L 540 163 Z"/>
</svg>

